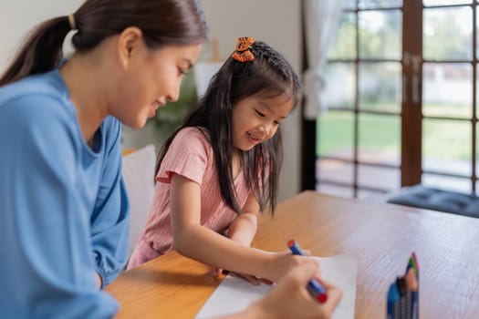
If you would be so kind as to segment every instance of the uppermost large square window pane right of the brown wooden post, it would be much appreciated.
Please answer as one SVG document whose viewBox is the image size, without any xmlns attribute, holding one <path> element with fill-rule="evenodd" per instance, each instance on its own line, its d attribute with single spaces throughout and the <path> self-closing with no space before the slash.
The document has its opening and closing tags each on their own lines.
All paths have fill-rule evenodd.
<svg viewBox="0 0 479 319">
<path fill-rule="evenodd" d="M 422 34 L 425 59 L 470 60 L 473 11 L 465 6 L 424 9 Z"/>
</svg>

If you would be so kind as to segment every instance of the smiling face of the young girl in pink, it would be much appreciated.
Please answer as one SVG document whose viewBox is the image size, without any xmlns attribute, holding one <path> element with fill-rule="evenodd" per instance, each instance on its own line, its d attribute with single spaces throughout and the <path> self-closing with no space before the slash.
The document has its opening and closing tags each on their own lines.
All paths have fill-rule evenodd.
<svg viewBox="0 0 479 319">
<path fill-rule="evenodd" d="M 240 99 L 233 107 L 234 147 L 249 150 L 271 139 L 294 104 L 294 99 L 286 94 L 275 98 L 252 96 Z"/>
</svg>

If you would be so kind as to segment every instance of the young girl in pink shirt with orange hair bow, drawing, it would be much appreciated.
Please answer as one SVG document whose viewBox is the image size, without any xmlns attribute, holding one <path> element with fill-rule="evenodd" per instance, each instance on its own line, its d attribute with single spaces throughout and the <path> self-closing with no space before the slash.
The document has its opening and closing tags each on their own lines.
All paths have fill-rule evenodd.
<svg viewBox="0 0 479 319">
<path fill-rule="evenodd" d="M 298 91 L 284 57 L 251 37 L 238 39 L 197 108 L 161 149 L 151 213 L 128 268 L 176 249 L 216 267 L 216 275 L 227 269 L 255 282 L 277 281 L 302 262 L 249 247 L 258 212 L 275 210 L 278 128 Z"/>
</svg>

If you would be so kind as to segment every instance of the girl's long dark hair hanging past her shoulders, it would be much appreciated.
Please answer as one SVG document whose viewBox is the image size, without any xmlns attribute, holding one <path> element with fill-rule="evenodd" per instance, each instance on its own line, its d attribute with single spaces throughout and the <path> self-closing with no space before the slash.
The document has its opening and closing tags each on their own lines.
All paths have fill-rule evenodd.
<svg viewBox="0 0 479 319">
<path fill-rule="evenodd" d="M 180 129 L 165 141 L 161 148 L 156 172 L 176 134 L 186 127 L 198 127 L 213 148 L 214 165 L 218 174 L 224 202 L 237 213 L 241 212 L 235 191 L 232 170 L 233 145 L 232 115 L 234 105 L 241 99 L 260 96 L 274 98 L 286 94 L 297 105 L 300 84 L 286 58 L 264 42 L 255 41 L 250 48 L 255 56 L 252 62 L 238 62 L 229 57 L 210 81 L 206 93 Z M 279 171 L 283 160 L 281 131 L 248 151 L 241 151 L 241 166 L 246 185 L 254 191 L 260 211 L 269 204 L 275 212 Z"/>
</svg>

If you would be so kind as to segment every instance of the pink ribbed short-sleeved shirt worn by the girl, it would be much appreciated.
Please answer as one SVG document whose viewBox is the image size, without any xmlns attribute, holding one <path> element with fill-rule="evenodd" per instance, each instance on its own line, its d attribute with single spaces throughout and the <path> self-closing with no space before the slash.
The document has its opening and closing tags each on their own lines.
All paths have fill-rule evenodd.
<svg viewBox="0 0 479 319">
<path fill-rule="evenodd" d="M 193 180 L 201 189 L 201 224 L 215 232 L 223 232 L 237 214 L 221 197 L 217 173 L 214 167 L 213 149 L 203 133 L 196 128 L 182 129 L 161 162 L 156 176 L 150 215 L 135 247 L 128 268 L 170 252 L 174 249 L 170 226 L 170 182 L 172 174 Z M 246 188 L 243 173 L 234 180 L 238 204 L 245 205 L 250 190 Z M 184 199 L 188 201 L 188 199 Z"/>
</svg>

